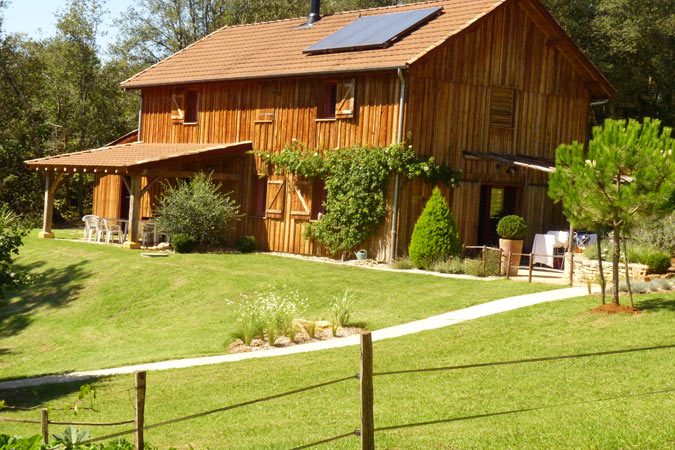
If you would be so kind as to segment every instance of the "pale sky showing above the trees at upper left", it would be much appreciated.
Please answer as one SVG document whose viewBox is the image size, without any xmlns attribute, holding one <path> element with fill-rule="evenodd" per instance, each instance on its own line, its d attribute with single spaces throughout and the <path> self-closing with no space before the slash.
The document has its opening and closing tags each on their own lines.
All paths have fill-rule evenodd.
<svg viewBox="0 0 675 450">
<path fill-rule="evenodd" d="M 54 14 L 63 9 L 67 0 L 9 0 L 9 6 L 5 11 L 3 27 L 8 33 L 26 33 L 35 39 L 44 38 L 54 34 L 56 18 Z M 108 10 L 101 26 L 99 45 L 106 49 L 108 44 L 116 40 L 116 29 L 113 20 L 120 16 L 133 0 L 103 0 L 104 8 Z M 103 32 L 107 32 L 104 34 Z"/>
</svg>

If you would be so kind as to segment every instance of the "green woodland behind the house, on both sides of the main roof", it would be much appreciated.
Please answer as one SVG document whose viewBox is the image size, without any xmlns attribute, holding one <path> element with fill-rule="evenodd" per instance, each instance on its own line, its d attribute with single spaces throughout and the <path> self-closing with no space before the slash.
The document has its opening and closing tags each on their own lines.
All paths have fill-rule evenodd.
<svg viewBox="0 0 675 450">
<path fill-rule="evenodd" d="M 18 1 L 18 0 L 15 0 Z M 589 118 L 653 117 L 675 125 L 675 0 L 543 0 L 618 91 Z M 327 0 L 322 13 L 396 4 Z M 66 0 L 51 36 L 3 29 L 0 0 L 0 204 L 25 220 L 42 213 L 40 175 L 23 161 L 96 148 L 137 127 L 139 98 L 119 83 L 227 25 L 302 17 L 308 0 L 139 0 L 112 29 L 105 1 Z M 116 36 L 102 48 L 101 32 Z M 91 208 L 91 176 L 71 178 L 56 199 L 55 221 Z"/>
</svg>

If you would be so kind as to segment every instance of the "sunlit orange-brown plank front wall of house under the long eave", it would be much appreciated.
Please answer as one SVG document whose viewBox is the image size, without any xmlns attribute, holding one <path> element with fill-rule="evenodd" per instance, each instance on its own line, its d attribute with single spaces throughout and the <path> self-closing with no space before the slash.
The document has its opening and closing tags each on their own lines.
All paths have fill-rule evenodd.
<svg viewBox="0 0 675 450">
<path fill-rule="evenodd" d="M 353 118 L 338 120 L 317 119 L 317 106 L 323 101 L 324 82 L 328 81 L 317 77 L 180 86 L 197 89 L 200 93 L 196 125 L 172 122 L 172 87 L 145 89 L 142 140 L 174 143 L 251 140 L 254 149 L 267 151 L 281 151 L 294 139 L 318 150 L 356 144 L 387 146 L 395 142 L 399 109 L 396 73 L 369 73 L 349 78 L 356 80 L 355 114 Z M 268 111 L 274 115 L 259 115 Z M 251 160 L 242 172 L 244 191 L 250 191 L 255 184 L 254 166 Z M 291 217 L 290 194 L 286 193 L 287 207 L 283 218 L 246 217 L 242 221 L 244 234 L 256 236 L 266 250 L 323 254 L 323 249 L 302 236 L 307 220 Z M 242 212 L 249 213 L 250 205 L 250 202 L 244 202 Z M 383 228 L 391 229 L 389 219 Z M 367 243 L 366 248 L 371 255 L 385 259 L 389 231 L 379 235 L 378 239 Z"/>
</svg>

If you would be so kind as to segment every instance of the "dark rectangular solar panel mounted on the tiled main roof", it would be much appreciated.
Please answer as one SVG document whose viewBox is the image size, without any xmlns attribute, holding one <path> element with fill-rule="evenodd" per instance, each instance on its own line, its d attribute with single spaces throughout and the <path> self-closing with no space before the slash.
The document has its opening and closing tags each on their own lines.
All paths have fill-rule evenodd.
<svg viewBox="0 0 675 450">
<path fill-rule="evenodd" d="M 442 7 L 359 17 L 325 39 L 307 47 L 303 53 L 329 53 L 367 48 L 384 48 L 401 35 L 433 19 Z"/>
</svg>

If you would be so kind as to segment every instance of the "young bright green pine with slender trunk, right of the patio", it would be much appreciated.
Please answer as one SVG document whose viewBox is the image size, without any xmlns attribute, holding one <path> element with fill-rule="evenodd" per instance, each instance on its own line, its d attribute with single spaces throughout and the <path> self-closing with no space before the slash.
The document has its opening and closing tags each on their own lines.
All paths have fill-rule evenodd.
<svg viewBox="0 0 675 450">
<path fill-rule="evenodd" d="M 613 300 L 619 304 L 621 236 L 646 217 L 672 211 L 675 191 L 675 139 L 659 120 L 605 121 L 593 128 L 588 152 L 578 142 L 556 151 L 549 195 L 563 202 L 577 227 L 606 226 L 614 240 Z M 597 229 L 597 228 L 596 228 Z"/>
</svg>

